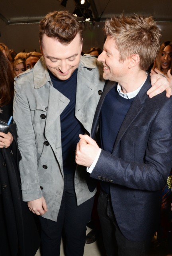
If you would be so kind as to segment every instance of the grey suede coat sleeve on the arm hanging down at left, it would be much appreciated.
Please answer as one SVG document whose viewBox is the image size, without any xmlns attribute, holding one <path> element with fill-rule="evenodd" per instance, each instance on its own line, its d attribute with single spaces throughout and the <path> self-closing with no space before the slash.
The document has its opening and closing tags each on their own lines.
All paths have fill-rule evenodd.
<svg viewBox="0 0 172 256">
<path fill-rule="evenodd" d="M 20 175 L 22 182 L 23 201 L 31 201 L 42 197 L 37 170 L 36 138 L 31 121 L 31 110 L 27 96 L 15 82 L 13 118 L 17 125 L 18 146 L 22 156 Z"/>
</svg>

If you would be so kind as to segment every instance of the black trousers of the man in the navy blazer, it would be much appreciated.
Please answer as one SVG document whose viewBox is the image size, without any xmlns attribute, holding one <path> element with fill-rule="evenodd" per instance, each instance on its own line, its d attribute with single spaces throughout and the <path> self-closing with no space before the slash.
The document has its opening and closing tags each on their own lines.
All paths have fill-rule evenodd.
<svg viewBox="0 0 172 256">
<path fill-rule="evenodd" d="M 147 256 L 151 239 L 142 242 L 127 240 L 121 233 L 110 196 L 100 191 L 98 200 L 98 215 L 102 226 L 104 246 L 108 256 Z"/>
</svg>

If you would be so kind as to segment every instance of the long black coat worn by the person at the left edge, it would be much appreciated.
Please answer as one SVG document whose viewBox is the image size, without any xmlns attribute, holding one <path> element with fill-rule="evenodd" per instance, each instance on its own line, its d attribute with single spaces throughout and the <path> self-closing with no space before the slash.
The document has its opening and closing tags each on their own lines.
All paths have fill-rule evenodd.
<svg viewBox="0 0 172 256">
<path fill-rule="evenodd" d="M 19 246 L 21 256 L 34 256 L 40 238 L 33 213 L 22 201 L 16 125 L 9 131 L 12 144 L 0 148 L 0 256 L 16 256 Z"/>
</svg>

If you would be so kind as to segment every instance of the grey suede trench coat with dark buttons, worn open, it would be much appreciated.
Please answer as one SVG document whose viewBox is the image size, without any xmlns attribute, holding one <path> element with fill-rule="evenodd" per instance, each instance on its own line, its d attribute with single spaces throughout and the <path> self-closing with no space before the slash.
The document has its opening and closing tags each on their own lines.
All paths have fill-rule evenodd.
<svg viewBox="0 0 172 256">
<path fill-rule="evenodd" d="M 81 56 L 75 115 L 87 134 L 91 132 L 100 90 L 104 88 L 102 74 L 102 65 L 95 57 Z M 53 87 L 43 57 L 15 80 L 13 118 L 22 155 L 23 201 L 43 196 L 48 207 L 43 217 L 57 221 L 64 187 L 60 114 L 70 100 Z M 88 189 L 83 166 L 76 168 L 74 184 L 78 205 L 96 193 Z"/>
</svg>

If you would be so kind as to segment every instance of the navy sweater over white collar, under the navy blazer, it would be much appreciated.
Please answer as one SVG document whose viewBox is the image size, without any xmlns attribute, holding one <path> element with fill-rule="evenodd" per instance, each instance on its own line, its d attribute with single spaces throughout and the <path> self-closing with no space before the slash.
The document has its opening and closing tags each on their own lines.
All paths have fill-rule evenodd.
<svg viewBox="0 0 172 256">
<path fill-rule="evenodd" d="M 117 87 L 113 87 L 104 99 L 100 114 L 100 142 L 101 148 L 110 154 L 113 151 L 121 124 L 134 98 L 123 98 L 117 92 Z M 100 183 L 102 190 L 109 194 L 109 183 L 106 181 Z"/>
</svg>

